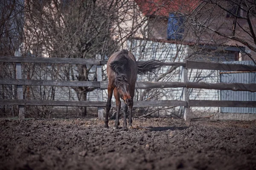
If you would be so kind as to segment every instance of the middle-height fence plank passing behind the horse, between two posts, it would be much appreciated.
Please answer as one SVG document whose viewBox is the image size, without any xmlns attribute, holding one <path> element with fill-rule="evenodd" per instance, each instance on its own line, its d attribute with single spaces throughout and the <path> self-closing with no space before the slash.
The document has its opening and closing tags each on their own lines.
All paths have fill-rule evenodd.
<svg viewBox="0 0 256 170">
<path fill-rule="evenodd" d="M 147 88 L 180 88 L 186 87 L 184 82 L 143 82 L 138 81 L 135 85 L 136 89 L 147 89 Z M 108 81 L 100 82 L 101 89 L 108 89 Z"/>
</svg>

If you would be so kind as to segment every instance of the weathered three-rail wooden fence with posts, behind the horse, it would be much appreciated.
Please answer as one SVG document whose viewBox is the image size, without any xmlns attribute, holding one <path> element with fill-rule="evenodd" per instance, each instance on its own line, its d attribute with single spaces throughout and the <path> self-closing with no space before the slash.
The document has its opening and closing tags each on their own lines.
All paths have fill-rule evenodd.
<svg viewBox="0 0 256 170">
<path fill-rule="evenodd" d="M 17 79 L 0 79 L 2 85 L 17 85 L 18 99 L 0 99 L 0 105 L 18 105 L 19 119 L 23 121 L 25 118 L 24 105 L 51 105 L 51 106 L 84 106 L 98 107 L 99 120 L 103 120 L 103 108 L 106 102 L 103 101 L 102 90 L 107 89 L 108 82 L 102 81 L 102 65 L 107 63 L 102 60 L 100 55 L 96 55 L 96 59 L 76 59 L 76 58 L 40 58 L 40 57 L 21 57 L 20 52 L 15 52 L 15 57 L 0 57 L 0 62 L 16 63 Z M 89 64 L 97 65 L 97 82 L 88 81 L 55 81 L 55 80 L 32 80 L 21 79 L 21 63 L 52 63 L 52 64 Z M 166 66 L 183 67 L 183 82 L 142 82 L 138 81 L 136 88 L 183 88 L 183 100 L 159 100 L 159 101 L 134 101 L 134 107 L 163 107 L 163 106 L 184 106 L 184 119 L 190 122 L 189 107 L 256 107 L 256 101 L 215 101 L 215 100 L 190 100 L 189 88 L 199 89 L 216 89 L 216 90 L 232 90 L 232 91 L 250 91 L 256 92 L 256 84 L 245 83 L 206 83 L 206 82 L 189 82 L 187 69 L 206 69 L 221 71 L 256 71 L 253 65 L 238 64 L 221 64 L 213 62 L 199 62 L 186 60 L 185 62 L 165 62 Z M 57 100 L 25 100 L 23 99 L 22 85 L 46 85 L 46 86 L 77 86 L 77 87 L 95 87 L 98 88 L 98 101 L 57 101 Z M 112 104 L 115 107 L 115 104 Z"/>
</svg>

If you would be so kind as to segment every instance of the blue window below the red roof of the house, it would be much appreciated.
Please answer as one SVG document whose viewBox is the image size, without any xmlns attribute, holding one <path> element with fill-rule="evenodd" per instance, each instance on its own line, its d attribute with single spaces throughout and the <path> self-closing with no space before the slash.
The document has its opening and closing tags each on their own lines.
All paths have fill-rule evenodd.
<svg viewBox="0 0 256 170">
<path fill-rule="evenodd" d="M 167 26 L 167 39 L 168 40 L 181 40 L 183 38 L 184 28 L 183 17 L 170 13 Z"/>
</svg>

